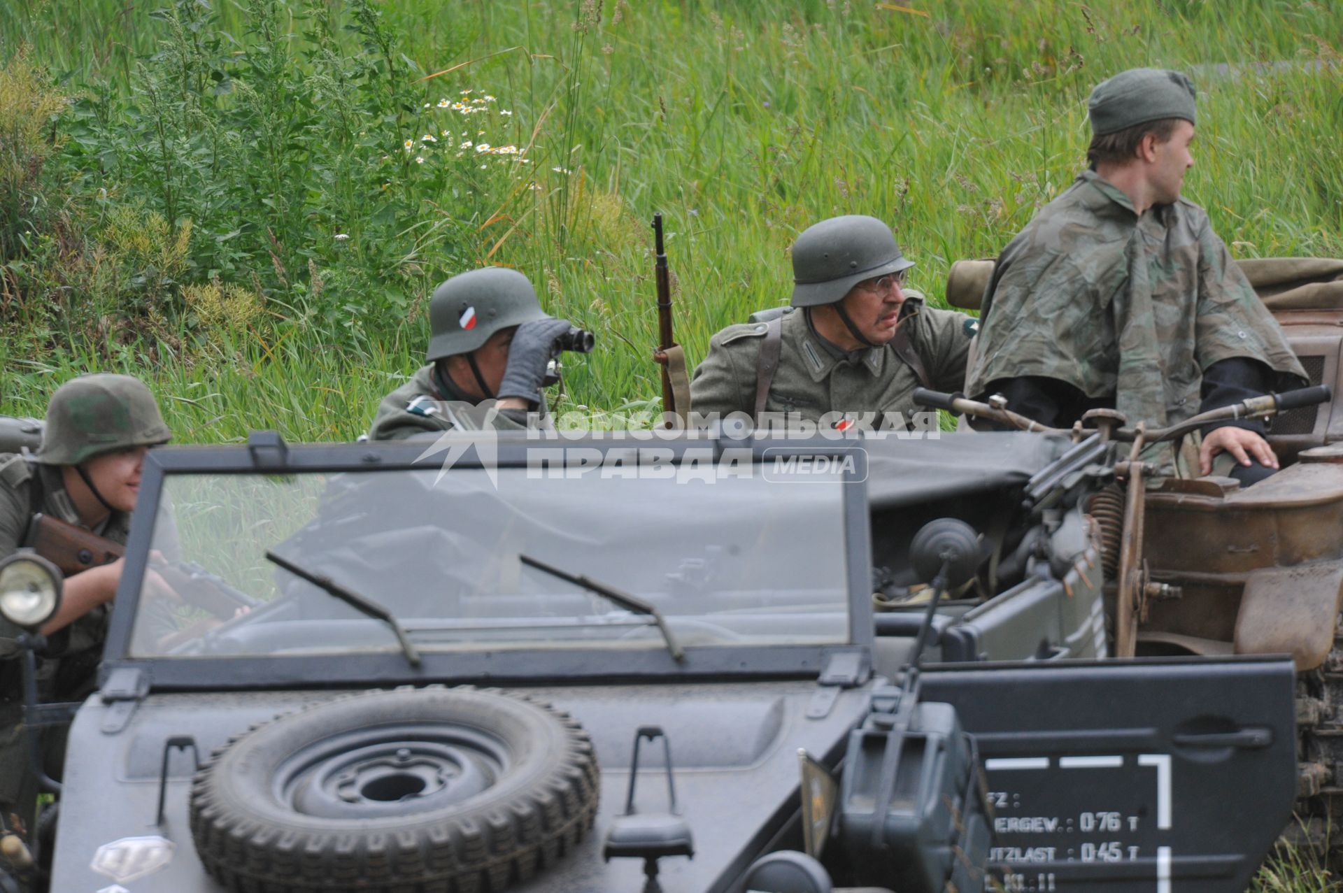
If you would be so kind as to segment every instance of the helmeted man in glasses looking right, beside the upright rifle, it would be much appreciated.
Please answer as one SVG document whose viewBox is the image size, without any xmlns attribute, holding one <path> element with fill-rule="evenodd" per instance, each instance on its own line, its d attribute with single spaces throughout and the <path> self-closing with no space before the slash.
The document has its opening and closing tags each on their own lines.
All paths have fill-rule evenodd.
<svg viewBox="0 0 1343 893">
<path fill-rule="evenodd" d="M 815 423 L 827 414 L 909 416 L 920 384 L 959 389 L 974 320 L 907 293 L 913 265 L 876 218 L 803 230 L 792 244 L 794 310 L 714 334 L 690 383 L 692 408 Z"/>
</svg>

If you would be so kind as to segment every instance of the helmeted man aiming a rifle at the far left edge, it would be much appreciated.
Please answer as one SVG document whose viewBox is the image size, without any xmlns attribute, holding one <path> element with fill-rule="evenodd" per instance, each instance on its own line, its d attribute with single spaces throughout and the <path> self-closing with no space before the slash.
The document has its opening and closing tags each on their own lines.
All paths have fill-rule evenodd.
<svg viewBox="0 0 1343 893">
<path fill-rule="evenodd" d="M 20 547 L 38 513 L 125 544 L 145 451 L 171 436 L 153 395 L 137 379 L 85 375 L 56 388 L 36 453 L 0 454 L 0 559 Z M 39 666 L 39 700 L 87 694 L 122 564 L 64 581 L 60 607 L 42 627 L 48 645 Z M 17 733 L 20 632 L 0 618 L 0 812 L 7 822 L 13 811 L 30 820 L 36 796 Z"/>
</svg>

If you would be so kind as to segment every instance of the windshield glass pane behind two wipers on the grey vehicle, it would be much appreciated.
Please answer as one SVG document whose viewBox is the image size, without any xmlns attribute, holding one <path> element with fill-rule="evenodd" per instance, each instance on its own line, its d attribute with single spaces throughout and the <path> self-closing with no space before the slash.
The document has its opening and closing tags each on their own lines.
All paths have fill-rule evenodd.
<svg viewBox="0 0 1343 893">
<path fill-rule="evenodd" d="M 493 479 L 492 479 L 493 477 Z M 842 475 L 782 483 L 539 477 L 501 467 L 169 473 L 136 611 L 134 657 L 686 649 L 849 639 Z M 305 571 L 282 569 L 267 552 Z M 328 587 L 329 588 L 329 587 Z"/>
</svg>

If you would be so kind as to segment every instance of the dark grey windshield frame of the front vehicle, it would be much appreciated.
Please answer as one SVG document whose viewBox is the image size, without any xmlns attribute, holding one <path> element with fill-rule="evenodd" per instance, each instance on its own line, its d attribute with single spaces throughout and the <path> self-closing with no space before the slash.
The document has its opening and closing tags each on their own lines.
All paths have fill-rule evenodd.
<svg viewBox="0 0 1343 893">
<path fill-rule="evenodd" d="M 497 435 L 497 436 L 496 436 Z M 379 443 L 328 443 L 286 446 L 274 435 L 270 439 L 252 436 L 248 444 L 236 446 L 179 446 L 150 450 L 145 458 L 140 497 L 134 522 L 126 543 L 126 564 L 113 604 L 103 651 L 99 679 L 111 670 L 136 667 L 144 670 L 156 690 L 175 689 L 242 689 L 242 688 L 304 688 L 304 686 L 367 686 L 428 682 L 539 682 L 556 678 L 577 679 L 666 679 L 686 677 L 775 677 L 815 678 L 838 653 L 858 653 L 864 666 L 870 665 L 873 619 L 870 606 L 872 547 L 869 538 L 866 454 L 861 440 L 778 440 L 768 438 L 725 439 L 702 434 L 681 434 L 676 438 L 658 436 L 655 440 L 620 440 L 606 436 L 565 436 L 560 443 L 537 439 L 535 434 L 492 432 L 492 447 L 498 467 L 521 467 L 528 463 L 528 449 L 536 446 L 576 446 L 612 450 L 659 449 L 670 450 L 673 461 L 702 462 L 705 457 L 721 457 L 725 450 L 740 450 L 737 457 L 749 455 L 761 473 L 776 455 L 853 457 L 842 463 L 842 517 L 846 547 L 845 565 L 849 583 L 847 643 L 830 645 L 760 645 L 733 647 L 701 645 L 685 649 L 685 659 L 676 661 L 662 647 L 620 651 L 619 657 L 600 647 L 561 650 L 481 650 L 461 653 L 426 653 L 423 663 L 412 667 L 400 651 L 379 651 L 330 655 L 247 655 L 247 657 L 132 657 L 130 639 L 137 602 L 145 573 L 146 557 L 153 537 L 153 518 L 164 490 L 164 479 L 172 474 L 286 474 L 286 473 L 341 473 L 375 470 L 439 469 L 443 453 L 424 455 L 427 447 L 459 442 L 470 444 L 479 435 L 447 435 L 438 443 L 432 439 Z M 708 451 L 708 453 L 706 453 Z M 482 469 L 474 447 L 454 459 L 457 469 Z M 451 473 L 451 471 L 450 471 Z M 684 486 L 705 486 L 685 483 Z M 800 485 L 799 485 L 800 486 Z M 148 520 L 149 522 L 145 522 Z M 650 530 L 649 536 L 657 536 Z M 521 658 L 521 659 L 520 659 Z M 612 667 L 618 666 L 619 671 Z"/>
</svg>

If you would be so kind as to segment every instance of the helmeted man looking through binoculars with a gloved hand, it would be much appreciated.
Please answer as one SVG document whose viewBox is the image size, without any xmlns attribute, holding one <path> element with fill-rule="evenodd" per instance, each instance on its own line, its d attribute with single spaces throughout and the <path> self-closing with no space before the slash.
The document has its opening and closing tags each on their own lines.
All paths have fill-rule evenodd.
<svg viewBox="0 0 1343 893">
<path fill-rule="evenodd" d="M 573 326 L 541 310 L 525 275 L 505 267 L 455 275 L 434 290 L 428 320 L 428 364 L 383 397 L 369 439 L 522 428 L 544 415 L 547 365 Z"/>
</svg>

